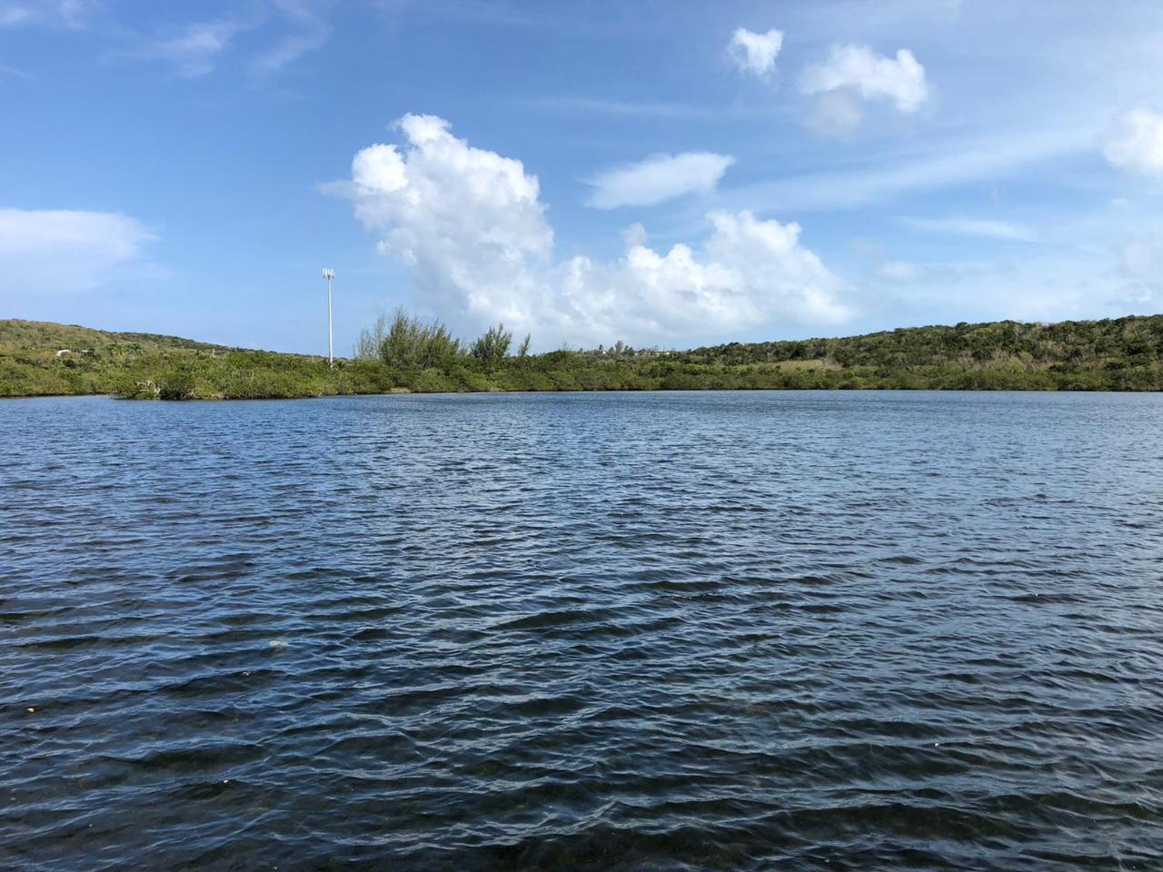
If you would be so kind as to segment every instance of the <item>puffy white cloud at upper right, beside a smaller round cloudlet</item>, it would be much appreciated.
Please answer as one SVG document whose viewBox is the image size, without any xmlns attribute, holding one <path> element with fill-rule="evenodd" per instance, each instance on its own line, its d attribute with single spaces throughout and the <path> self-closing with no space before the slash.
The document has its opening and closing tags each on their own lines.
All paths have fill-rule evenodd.
<svg viewBox="0 0 1163 872">
<path fill-rule="evenodd" d="M 812 124 L 823 133 L 843 134 L 863 120 L 862 101 L 889 100 L 897 112 L 912 114 L 929 99 L 925 67 L 908 49 L 896 57 L 868 45 L 833 45 L 827 59 L 808 65 L 800 91 L 818 97 Z"/>
</svg>

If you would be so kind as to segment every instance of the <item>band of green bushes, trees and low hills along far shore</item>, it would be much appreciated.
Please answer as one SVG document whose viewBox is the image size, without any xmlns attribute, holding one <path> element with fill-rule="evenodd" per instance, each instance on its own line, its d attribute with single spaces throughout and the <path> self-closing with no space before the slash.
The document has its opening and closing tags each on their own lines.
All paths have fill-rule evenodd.
<svg viewBox="0 0 1163 872">
<path fill-rule="evenodd" d="M 0 321 L 0 396 L 276 399 L 388 392 L 905 388 L 1161 391 L 1163 315 L 918 327 L 691 351 L 511 353 L 497 324 L 472 343 L 399 310 L 355 357 L 248 351 L 173 336 Z M 67 350 L 66 350 L 67 349 Z"/>
</svg>

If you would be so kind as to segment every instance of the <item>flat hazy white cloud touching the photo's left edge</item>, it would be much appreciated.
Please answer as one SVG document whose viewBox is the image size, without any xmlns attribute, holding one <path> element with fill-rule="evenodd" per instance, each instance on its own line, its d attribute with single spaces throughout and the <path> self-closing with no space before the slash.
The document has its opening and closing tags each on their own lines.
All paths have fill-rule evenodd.
<svg viewBox="0 0 1163 872">
<path fill-rule="evenodd" d="M 155 238 L 137 220 L 110 212 L 0 209 L 6 284 L 29 294 L 106 284 L 138 264 Z"/>
</svg>

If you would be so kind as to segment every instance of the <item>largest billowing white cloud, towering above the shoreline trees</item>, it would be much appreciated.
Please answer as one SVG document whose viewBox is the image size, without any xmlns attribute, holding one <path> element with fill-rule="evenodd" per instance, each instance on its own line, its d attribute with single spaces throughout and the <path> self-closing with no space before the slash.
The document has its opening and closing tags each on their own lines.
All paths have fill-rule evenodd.
<svg viewBox="0 0 1163 872">
<path fill-rule="evenodd" d="M 609 262 L 554 259 L 537 178 L 471 146 L 443 119 L 405 115 L 404 142 L 359 151 L 349 198 L 381 251 L 414 269 L 424 300 L 462 328 L 504 320 L 561 339 L 635 343 L 848 315 L 844 284 L 800 243 L 795 223 L 714 212 L 699 244 L 656 250 L 635 226 Z"/>
</svg>

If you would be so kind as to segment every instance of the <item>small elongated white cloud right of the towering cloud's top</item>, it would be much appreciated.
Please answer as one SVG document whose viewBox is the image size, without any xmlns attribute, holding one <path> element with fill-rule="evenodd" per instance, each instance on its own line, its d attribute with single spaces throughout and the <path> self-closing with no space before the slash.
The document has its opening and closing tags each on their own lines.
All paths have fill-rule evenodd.
<svg viewBox="0 0 1163 872">
<path fill-rule="evenodd" d="M 652 155 L 636 164 L 599 172 L 590 205 L 599 209 L 652 206 L 691 193 L 709 193 L 735 158 L 709 151 Z"/>
</svg>

